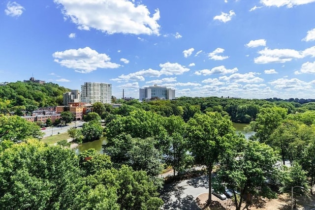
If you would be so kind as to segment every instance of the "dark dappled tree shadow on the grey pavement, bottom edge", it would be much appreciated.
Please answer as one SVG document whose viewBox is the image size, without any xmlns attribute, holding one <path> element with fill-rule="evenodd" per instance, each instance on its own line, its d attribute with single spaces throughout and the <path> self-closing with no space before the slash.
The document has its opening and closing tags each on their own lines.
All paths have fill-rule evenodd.
<svg viewBox="0 0 315 210">
<path fill-rule="evenodd" d="M 172 191 L 165 191 L 160 198 L 164 201 L 162 209 L 164 210 L 198 210 L 194 198 L 191 195 L 187 195 L 182 198 L 184 194 L 184 187 L 176 187 Z M 175 196 L 175 200 L 171 197 Z"/>
</svg>

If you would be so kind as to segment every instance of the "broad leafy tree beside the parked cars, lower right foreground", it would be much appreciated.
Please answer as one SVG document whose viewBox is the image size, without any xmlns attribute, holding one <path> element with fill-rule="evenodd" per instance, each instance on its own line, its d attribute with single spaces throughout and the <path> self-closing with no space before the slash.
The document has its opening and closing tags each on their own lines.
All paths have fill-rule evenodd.
<svg viewBox="0 0 315 210">
<path fill-rule="evenodd" d="M 228 150 L 222 156 L 220 168 L 215 178 L 216 185 L 222 183 L 233 190 L 236 210 L 241 209 L 243 197 L 250 202 L 252 195 L 274 198 L 268 181 L 277 180 L 276 152 L 269 146 L 257 141 L 247 141 L 239 138 L 233 150 Z M 236 191 L 240 192 L 237 196 Z"/>
</svg>

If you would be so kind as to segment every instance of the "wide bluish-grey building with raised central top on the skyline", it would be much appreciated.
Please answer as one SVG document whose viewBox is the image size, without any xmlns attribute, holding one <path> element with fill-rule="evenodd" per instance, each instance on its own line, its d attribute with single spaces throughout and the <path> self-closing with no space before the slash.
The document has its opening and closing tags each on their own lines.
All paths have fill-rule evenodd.
<svg viewBox="0 0 315 210">
<path fill-rule="evenodd" d="M 139 100 L 142 101 L 143 99 L 151 98 L 172 100 L 175 99 L 175 90 L 156 84 L 154 86 L 149 86 L 148 88 L 139 89 Z"/>
</svg>

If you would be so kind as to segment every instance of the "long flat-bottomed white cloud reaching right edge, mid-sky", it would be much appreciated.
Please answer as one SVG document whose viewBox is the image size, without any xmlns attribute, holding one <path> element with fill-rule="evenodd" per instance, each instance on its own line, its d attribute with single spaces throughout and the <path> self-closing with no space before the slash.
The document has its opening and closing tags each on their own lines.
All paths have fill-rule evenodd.
<svg viewBox="0 0 315 210">
<path fill-rule="evenodd" d="M 302 59 L 306 56 L 315 57 L 315 46 L 305 49 L 304 51 L 296 51 L 292 49 L 268 49 L 258 51 L 259 57 L 254 58 L 255 63 L 272 63 L 272 62 L 287 62 L 292 59 Z"/>
</svg>

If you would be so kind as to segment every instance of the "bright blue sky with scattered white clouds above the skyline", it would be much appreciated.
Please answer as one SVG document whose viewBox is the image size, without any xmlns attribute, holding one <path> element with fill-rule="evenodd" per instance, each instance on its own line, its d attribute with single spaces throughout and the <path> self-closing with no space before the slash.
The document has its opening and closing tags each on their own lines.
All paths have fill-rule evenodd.
<svg viewBox="0 0 315 210">
<path fill-rule="evenodd" d="M 315 0 L 1 0 L 0 48 L 0 82 L 315 98 Z"/>
</svg>

